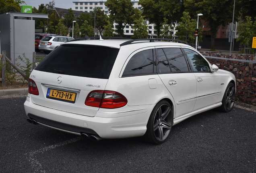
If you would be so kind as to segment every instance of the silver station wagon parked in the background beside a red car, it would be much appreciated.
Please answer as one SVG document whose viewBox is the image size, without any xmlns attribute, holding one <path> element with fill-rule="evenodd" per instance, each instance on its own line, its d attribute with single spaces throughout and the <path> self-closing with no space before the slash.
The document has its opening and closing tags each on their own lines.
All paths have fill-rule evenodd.
<svg viewBox="0 0 256 173">
<path fill-rule="evenodd" d="M 46 36 L 42 40 L 40 40 L 38 48 L 39 50 L 42 50 L 45 54 L 48 54 L 56 49 L 58 46 L 60 46 L 60 44 L 68 42 L 70 40 L 74 40 L 74 38 L 68 36 Z"/>
</svg>

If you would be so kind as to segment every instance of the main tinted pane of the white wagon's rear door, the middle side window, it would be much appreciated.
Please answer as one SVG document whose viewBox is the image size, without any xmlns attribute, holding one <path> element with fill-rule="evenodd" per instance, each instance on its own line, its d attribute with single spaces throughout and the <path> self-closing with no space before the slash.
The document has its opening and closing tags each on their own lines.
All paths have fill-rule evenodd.
<svg viewBox="0 0 256 173">
<path fill-rule="evenodd" d="M 188 72 L 188 65 L 180 48 L 163 49 L 170 63 L 171 72 Z"/>
</svg>

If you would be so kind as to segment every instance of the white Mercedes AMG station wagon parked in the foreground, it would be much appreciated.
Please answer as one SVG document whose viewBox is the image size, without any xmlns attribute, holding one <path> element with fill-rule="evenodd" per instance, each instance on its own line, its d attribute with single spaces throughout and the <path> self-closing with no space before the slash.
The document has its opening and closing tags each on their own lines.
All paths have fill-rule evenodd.
<svg viewBox="0 0 256 173">
<path fill-rule="evenodd" d="M 171 127 L 219 107 L 231 111 L 235 76 L 179 40 L 81 38 L 31 73 L 27 121 L 95 141 L 163 143 Z"/>
</svg>

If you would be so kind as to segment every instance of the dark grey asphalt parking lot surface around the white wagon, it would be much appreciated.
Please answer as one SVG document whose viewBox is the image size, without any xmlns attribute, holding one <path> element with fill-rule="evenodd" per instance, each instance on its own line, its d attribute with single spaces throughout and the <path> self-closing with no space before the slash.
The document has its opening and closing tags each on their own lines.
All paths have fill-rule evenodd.
<svg viewBox="0 0 256 173">
<path fill-rule="evenodd" d="M 235 105 L 173 126 L 161 145 L 98 142 L 27 122 L 25 96 L 0 97 L 1 173 L 254 173 L 256 111 Z"/>
</svg>

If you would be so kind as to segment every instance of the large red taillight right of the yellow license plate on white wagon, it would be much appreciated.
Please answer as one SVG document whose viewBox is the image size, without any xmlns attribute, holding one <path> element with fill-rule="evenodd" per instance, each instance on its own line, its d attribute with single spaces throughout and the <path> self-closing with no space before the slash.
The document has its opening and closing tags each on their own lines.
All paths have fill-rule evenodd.
<svg viewBox="0 0 256 173">
<path fill-rule="evenodd" d="M 85 100 L 85 105 L 91 107 L 114 109 L 127 104 L 127 99 L 116 91 L 91 91 Z"/>
</svg>

